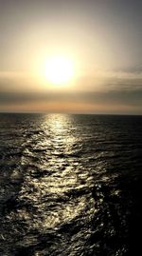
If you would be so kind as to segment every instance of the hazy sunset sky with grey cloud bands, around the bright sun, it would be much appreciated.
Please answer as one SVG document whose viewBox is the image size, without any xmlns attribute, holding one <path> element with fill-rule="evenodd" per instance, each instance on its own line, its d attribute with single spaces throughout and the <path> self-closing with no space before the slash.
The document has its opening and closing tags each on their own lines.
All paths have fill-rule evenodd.
<svg viewBox="0 0 142 256">
<path fill-rule="evenodd" d="M 0 111 L 142 114 L 141 12 L 140 0 L 0 0 Z M 56 87 L 44 64 L 58 54 L 75 73 Z"/>
</svg>

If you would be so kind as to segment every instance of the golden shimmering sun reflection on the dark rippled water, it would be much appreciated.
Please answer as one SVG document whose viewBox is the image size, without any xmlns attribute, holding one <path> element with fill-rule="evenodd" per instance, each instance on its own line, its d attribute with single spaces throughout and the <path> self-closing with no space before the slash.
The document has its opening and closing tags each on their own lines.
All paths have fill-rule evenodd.
<svg viewBox="0 0 142 256">
<path fill-rule="evenodd" d="M 80 195 L 80 190 L 87 187 L 87 173 L 80 175 L 82 166 L 74 148 L 80 143 L 80 137 L 71 116 L 47 115 L 41 127 L 42 132 L 34 137 L 32 148 L 28 148 L 24 156 L 27 175 L 20 199 L 33 208 L 30 226 L 53 228 L 85 211 L 89 200 L 86 195 Z M 32 165 L 31 160 L 28 165 L 29 157 Z M 94 203 L 89 204 L 84 214 Z"/>
</svg>

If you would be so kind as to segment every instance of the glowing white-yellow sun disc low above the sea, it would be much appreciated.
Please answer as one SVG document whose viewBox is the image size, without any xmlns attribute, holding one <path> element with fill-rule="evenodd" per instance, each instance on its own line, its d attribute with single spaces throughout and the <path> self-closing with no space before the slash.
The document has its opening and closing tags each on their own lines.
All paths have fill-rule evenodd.
<svg viewBox="0 0 142 256">
<path fill-rule="evenodd" d="M 64 85 L 74 75 L 73 62 L 64 56 L 51 57 L 45 62 L 44 74 L 46 80 L 53 85 Z"/>
</svg>

